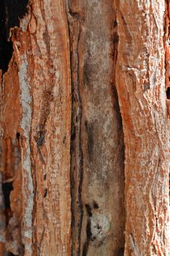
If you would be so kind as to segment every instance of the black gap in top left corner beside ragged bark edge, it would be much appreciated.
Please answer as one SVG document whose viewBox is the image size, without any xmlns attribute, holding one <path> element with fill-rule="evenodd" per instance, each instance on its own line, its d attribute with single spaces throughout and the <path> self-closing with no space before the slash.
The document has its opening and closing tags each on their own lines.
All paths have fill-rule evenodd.
<svg viewBox="0 0 170 256">
<path fill-rule="evenodd" d="M 1 0 L 0 1 L 0 69 L 2 74 L 7 72 L 12 58 L 13 45 L 9 40 L 10 28 L 19 26 L 20 18 L 27 12 L 28 0 Z"/>
</svg>

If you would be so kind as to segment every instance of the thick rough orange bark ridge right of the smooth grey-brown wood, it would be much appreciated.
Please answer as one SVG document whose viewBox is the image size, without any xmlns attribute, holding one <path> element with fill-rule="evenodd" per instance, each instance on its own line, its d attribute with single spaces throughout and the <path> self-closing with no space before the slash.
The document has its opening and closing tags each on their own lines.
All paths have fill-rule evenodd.
<svg viewBox="0 0 170 256">
<path fill-rule="evenodd" d="M 125 255 L 169 255 L 165 5 L 115 1 L 115 6 L 116 85 L 125 141 Z"/>
</svg>

